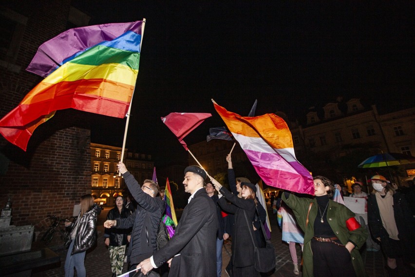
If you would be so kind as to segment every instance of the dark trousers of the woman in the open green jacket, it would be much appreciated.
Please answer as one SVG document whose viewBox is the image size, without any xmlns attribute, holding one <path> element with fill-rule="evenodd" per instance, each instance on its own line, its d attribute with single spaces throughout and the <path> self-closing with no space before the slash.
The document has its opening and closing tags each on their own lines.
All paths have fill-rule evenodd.
<svg viewBox="0 0 415 277">
<path fill-rule="evenodd" d="M 339 242 L 340 241 L 336 241 Z M 356 277 L 349 250 L 333 242 L 311 240 L 313 274 L 318 277 Z"/>
</svg>

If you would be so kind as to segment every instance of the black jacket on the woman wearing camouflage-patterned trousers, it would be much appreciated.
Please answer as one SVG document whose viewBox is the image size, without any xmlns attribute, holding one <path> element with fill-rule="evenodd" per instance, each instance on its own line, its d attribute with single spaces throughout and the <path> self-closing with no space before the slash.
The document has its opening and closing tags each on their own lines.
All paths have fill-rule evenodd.
<svg viewBox="0 0 415 277">
<path fill-rule="evenodd" d="M 122 208 L 121 213 L 118 208 L 115 207 L 108 212 L 107 220 L 117 220 L 122 218 L 128 218 L 131 212 L 125 206 Z M 131 234 L 131 228 L 129 229 L 117 229 L 116 227 L 105 228 L 104 238 L 110 239 L 110 246 L 121 246 L 128 243 L 127 236 Z"/>
</svg>

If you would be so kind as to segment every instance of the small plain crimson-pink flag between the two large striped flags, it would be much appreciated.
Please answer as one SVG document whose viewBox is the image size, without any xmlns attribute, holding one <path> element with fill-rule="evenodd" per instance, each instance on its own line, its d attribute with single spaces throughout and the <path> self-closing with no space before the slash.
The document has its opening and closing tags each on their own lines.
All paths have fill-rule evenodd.
<svg viewBox="0 0 415 277">
<path fill-rule="evenodd" d="M 161 117 L 161 120 L 169 127 L 183 147 L 189 150 L 183 139 L 210 116 L 212 116 L 210 113 L 171 112 L 167 116 Z"/>
</svg>

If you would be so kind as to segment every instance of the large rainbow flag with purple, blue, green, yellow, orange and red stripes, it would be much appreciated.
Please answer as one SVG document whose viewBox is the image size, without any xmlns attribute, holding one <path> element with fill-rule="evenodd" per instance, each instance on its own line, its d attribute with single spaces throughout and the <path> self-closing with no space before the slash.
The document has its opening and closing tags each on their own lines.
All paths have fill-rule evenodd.
<svg viewBox="0 0 415 277">
<path fill-rule="evenodd" d="M 27 70 L 47 77 L 0 120 L 0 133 L 26 150 L 33 131 L 57 110 L 125 117 L 138 75 L 142 23 L 75 28 L 42 44 Z"/>
</svg>

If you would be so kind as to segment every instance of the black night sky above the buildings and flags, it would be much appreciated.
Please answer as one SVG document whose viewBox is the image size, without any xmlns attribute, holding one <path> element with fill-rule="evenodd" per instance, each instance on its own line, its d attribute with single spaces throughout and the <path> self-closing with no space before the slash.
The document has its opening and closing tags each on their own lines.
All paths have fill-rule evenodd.
<svg viewBox="0 0 415 277">
<path fill-rule="evenodd" d="M 146 18 L 127 148 L 157 165 L 187 159 L 160 117 L 210 112 L 188 145 L 224 126 L 210 101 L 247 115 L 360 98 L 388 111 L 414 107 L 414 7 L 398 3 L 75 0 L 91 25 Z M 118 4 L 115 4 L 118 3 Z M 108 127 L 111 130 L 108 130 Z M 125 119 L 102 117 L 92 142 L 122 145 Z"/>
</svg>

